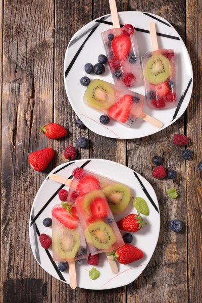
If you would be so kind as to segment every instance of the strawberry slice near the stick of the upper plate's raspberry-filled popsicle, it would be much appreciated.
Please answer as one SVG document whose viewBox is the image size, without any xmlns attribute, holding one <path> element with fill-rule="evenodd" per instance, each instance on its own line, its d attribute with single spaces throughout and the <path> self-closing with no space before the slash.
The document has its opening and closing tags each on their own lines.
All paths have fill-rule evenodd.
<svg viewBox="0 0 202 303">
<path fill-rule="evenodd" d="M 125 60 L 131 46 L 130 38 L 126 35 L 119 35 L 112 40 L 112 52 L 119 60 Z"/>
</svg>

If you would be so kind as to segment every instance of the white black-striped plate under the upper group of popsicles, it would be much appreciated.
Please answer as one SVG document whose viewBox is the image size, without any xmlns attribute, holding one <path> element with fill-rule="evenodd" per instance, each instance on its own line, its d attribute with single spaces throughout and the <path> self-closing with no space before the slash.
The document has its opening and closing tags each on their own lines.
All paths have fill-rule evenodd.
<svg viewBox="0 0 202 303">
<path fill-rule="evenodd" d="M 139 46 L 140 56 L 151 51 L 149 36 L 149 23 L 155 22 L 158 35 L 159 48 L 171 48 L 175 51 L 177 66 L 176 74 L 176 106 L 165 110 L 151 110 L 144 105 L 143 111 L 150 116 L 164 123 L 162 129 L 174 123 L 186 110 L 192 92 L 193 72 L 190 58 L 184 42 L 174 27 L 164 18 L 154 14 L 143 12 L 121 12 L 119 13 L 120 24 L 130 23 L 136 29 L 136 37 Z M 83 76 L 89 76 L 91 80 L 100 78 L 114 83 L 106 65 L 106 72 L 102 76 L 94 74 L 87 75 L 84 71 L 85 63 L 97 63 L 99 54 L 105 54 L 101 33 L 113 28 L 111 15 L 99 17 L 82 27 L 69 42 L 64 62 L 64 79 L 68 99 L 77 116 L 93 132 L 111 138 L 133 139 L 154 134 L 161 129 L 149 123 L 136 119 L 133 127 L 127 128 L 124 125 L 111 119 L 108 125 L 99 123 L 100 113 L 87 107 L 83 103 L 83 94 L 86 87 L 80 84 Z M 130 87 L 129 89 L 144 95 L 143 85 Z"/>
</svg>

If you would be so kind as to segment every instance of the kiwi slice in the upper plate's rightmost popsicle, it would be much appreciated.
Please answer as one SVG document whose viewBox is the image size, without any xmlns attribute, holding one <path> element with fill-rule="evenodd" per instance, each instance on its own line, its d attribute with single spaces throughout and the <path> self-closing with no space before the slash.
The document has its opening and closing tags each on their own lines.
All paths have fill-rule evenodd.
<svg viewBox="0 0 202 303">
<path fill-rule="evenodd" d="M 144 77 L 152 84 L 166 81 L 170 76 L 170 62 L 163 55 L 151 56 L 144 66 Z"/>
</svg>

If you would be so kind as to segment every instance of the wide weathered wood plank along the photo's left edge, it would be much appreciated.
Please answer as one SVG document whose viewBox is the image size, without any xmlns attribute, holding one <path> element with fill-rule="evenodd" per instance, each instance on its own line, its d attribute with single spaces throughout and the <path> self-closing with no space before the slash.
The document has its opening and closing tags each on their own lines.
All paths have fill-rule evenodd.
<svg viewBox="0 0 202 303">
<path fill-rule="evenodd" d="M 41 0 L 4 1 L 2 286 L 7 279 L 42 278 L 49 285 L 44 302 L 52 301 L 52 278 L 34 260 L 28 225 L 33 198 L 53 166 L 34 172 L 28 154 L 52 146 L 38 128 L 53 117 L 53 30 L 52 0 L 45 5 Z"/>
</svg>

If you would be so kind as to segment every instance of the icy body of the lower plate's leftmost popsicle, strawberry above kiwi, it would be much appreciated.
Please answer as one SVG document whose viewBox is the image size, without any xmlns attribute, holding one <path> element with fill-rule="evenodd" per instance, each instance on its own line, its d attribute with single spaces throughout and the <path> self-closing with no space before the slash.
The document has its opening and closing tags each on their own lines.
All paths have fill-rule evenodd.
<svg viewBox="0 0 202 303">
<path fill-rule="evenodd" d="M 57 204 L 52 209 L 52 247 L 54 261 L 73 261 L 87 258 L 86 242 L 77 211 L 72 216 Z"/>
</svg>

